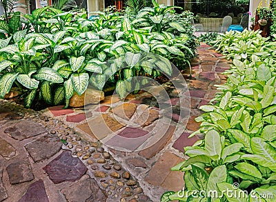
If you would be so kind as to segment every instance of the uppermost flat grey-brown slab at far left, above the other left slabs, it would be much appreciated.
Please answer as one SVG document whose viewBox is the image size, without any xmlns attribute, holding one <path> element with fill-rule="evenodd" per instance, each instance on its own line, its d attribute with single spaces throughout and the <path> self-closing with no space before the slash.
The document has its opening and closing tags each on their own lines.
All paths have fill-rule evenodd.
<svg viewBox="0 0 276 202">
<path fill-rule="evenodd" d="M 39 134 L 43 134 L 44 132 L 47 132 L 47 131 L 38 123 L 21 120 L 18 123 L 16 123 L 14 126 L 10 128 L 6 128 L 4 132 L 9 134 L 14 139 L 23 140 L 23 139 L 37 136 Z"/>
</svg>

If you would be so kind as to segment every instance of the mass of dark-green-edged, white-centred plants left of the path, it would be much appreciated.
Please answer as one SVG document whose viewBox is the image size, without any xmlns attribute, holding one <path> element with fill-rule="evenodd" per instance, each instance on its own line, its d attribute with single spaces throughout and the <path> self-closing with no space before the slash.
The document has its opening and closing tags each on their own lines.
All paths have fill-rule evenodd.
<svg viewBox="0 0 276 202">
<path fill-rule="evenodd" d="M 170 63 L 159 57 L 138 63 L 143 52 L 177 61 L 179 68 L 189 64 L 197 45 L 191 26 L 167 16 L 175 7 L 152 3 L 135 18 L 99 12 L 92 21 L 86 14 L 51 7 L 15 12 L 8 23 L 0 22 L 0 97 L 16 84 L 27 108 L 34 99 L 50 105 L 66 101 L 67 107 L 72 94 L 83 94 L 89 83 L 99 89 L 104 81 L 117 85 L 123 97 L 126 85 L 118 83 L 140 74 L 171 74 Z M 112 58 L 117 61 L 108 64 Z"/>
</svg>

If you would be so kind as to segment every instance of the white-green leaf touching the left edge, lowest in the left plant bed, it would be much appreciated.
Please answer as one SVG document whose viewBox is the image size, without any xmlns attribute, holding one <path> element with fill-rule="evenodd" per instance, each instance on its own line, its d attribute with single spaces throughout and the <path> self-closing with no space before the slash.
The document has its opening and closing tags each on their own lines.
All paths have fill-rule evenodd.
<svg viewBox="0 0 276 202">
<path fill-rule="evenodd" d="M 12 88 L 12 84 L 17 79 L 17 75 L 19 73 L 15 72 L 7 72 L 6 74 L 3 74 L 3 76 L 0 78 L 0 98 L 3 99 L 5 97 L 5 94 L 10 92 L 10 88 Z"/>
</svg>

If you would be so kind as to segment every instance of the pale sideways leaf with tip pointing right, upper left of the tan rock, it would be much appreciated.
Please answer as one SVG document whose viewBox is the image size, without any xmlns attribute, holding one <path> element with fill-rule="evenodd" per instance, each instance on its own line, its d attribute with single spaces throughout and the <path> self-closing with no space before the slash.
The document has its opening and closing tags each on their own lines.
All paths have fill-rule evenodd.
<svg viewBox="0 0 276 202">
<path fill-rule="evenodd" d="M 51 81 L 52 83 L 62 83 L 63 79 L 56 70 L 51 68 L 41 68 L 34 75 L 34 79 Z"/>
</svg>

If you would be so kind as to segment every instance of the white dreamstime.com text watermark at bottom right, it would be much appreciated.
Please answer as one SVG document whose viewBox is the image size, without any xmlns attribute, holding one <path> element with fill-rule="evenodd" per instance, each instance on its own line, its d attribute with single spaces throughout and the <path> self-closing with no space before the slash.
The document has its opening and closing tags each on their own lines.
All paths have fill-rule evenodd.
<svg viewBox="0 0 276 202">
<path fill-rule="evenodd" d="M 239 189 L 239 183 L 233 183 L 232 189 L 226 188 L 219 192 L 218 190 L 185 190 L 183 188 L 180 192 L 177 193 L 180 198 L 188 198 L 192 196 L 193 198 L 213 198 L 221 199 L 226 196 L 226 198 L 235 198 L 235 199 L 247 199 L 248 196 L 252 199 L 276 199 L 276 196 L 273 193 L 258 193 L 252 190 L 250 193 L 246 190 Z"/>
</svg>

